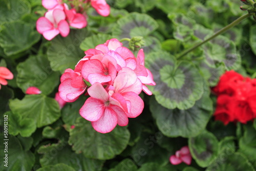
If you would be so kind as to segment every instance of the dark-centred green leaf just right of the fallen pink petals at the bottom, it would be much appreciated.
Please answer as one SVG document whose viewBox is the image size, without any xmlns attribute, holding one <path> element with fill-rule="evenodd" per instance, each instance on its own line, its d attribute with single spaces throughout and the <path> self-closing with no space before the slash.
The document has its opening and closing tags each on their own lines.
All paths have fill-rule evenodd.
<svg viewBox="0 0 256 171">
<path fill-rule="evenodd" d="M 207 167 L 218 155 L 218 140 L 214 134 L 207 131 L 189 138 L 188 146 L 192 157 L 201 167 Z"/>
</svg>

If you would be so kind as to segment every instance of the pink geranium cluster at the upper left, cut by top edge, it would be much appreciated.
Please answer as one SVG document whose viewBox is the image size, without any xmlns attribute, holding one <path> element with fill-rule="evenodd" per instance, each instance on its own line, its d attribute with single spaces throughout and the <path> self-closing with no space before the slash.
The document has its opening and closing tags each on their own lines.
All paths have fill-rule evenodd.
<svg viewBox="0 0 256 171">
<path fill-rule="evenodd" d="M 42 0 L 42 6 L 48 11 L 45 16 L 38 18 L 36 22 L 37 31 L 47 40 L 53 39 L 60 34 L 68 36 L 70 26 L 81 29 L 87 26 L 86 10 L 92 6 L 102 16 L 110 14 L 110 6 L 105 0 L 71 0 L 68 4 L 62 0 Z"/>
</svg>

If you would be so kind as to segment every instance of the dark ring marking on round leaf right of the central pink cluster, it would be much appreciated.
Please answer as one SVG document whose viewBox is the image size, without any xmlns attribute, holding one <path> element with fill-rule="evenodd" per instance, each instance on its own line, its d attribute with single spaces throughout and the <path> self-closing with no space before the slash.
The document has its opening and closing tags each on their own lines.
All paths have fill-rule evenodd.
<svg viewBox="0 0 256 171">
<path fill-rule="evenodd" d="M 189 97 L 190 94 L 192 94 L 192 89 L 194 88 L 194 82 L 191 79 L 192 75 L 189 72 L 186 72 L 186 70 L 183 67 L 179 67 L 183 71 L 183 74 L 185 75 L 184 78 L 184 84 L 181 87 L 181 89 L 173 89 L 167 86 L 165 82 L 161 80 L 161 76 L 159 74 L 160 69 L 162 69 L 164 66 L 174 66 L 174 64 L 168 60 L 158 59 L 151 65 L 151 72 L 154 76 L 154 80 L 156 82 L 155 90 L 159 91 L 160 94 L 165 98 L 176 98 L 175 100 L 177 102 L 181 102 Z M 186 73 L 186 74 L 185 74 Z M 190 89 L 187 89 L 189 86 Z"/>
</svg>

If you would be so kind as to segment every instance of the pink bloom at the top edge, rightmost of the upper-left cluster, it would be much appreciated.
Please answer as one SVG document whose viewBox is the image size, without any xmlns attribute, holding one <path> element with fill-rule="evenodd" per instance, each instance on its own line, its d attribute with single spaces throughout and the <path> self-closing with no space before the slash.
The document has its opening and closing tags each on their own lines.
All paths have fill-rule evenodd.
<svg viewBox="0 0 256 171">
<path fill-rule="evenodd" d="M 102 16 L 110 14 L 110 6 L 106 4 L 105 0 L 92 0 L 92 7 Z"/>
</svg>

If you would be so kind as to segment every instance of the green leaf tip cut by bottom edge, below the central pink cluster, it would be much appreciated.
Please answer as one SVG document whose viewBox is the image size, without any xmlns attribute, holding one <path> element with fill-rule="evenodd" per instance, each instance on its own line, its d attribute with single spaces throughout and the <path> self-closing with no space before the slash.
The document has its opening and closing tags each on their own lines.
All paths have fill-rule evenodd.
<svg viewBox="0 0 256 171">
<path fill-rule="evenodd" d="M 135 171 L 137 169 L 138 169 L 138 167 L 134 163 L 133 160 L 131 160 L 131 159 L 124 159 L 120 163 L 118 163 L 114 168 L 109 169 L 109 171 L 120 171 L 120 170 Z"/>
</svg>

